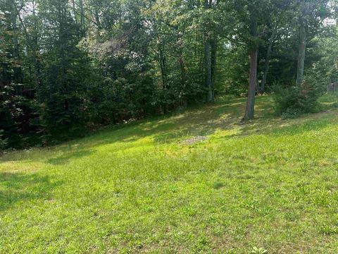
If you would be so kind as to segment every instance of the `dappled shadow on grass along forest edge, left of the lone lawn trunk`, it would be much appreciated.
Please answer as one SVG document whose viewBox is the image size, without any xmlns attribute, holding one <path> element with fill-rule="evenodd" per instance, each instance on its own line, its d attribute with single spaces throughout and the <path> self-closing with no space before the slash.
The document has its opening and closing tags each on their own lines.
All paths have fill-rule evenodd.
<svg viewBox="0 0 338 254">
<path fill-rule="evenodd" d="M 158 116 L 144 119 L 123 126 L 112 126 L 87 138 L 73 140 L 64 145 L 49 149 L 44 148 L 44 158 L 30 156 L 30 152 L 18 152 L 4 156 L 0 161 L 15 160 L 40 161 L 47 164 L 62 166 L 71 160 L 87 157 L 95 152 L 100 145 L 116 144 L 116 150 L 126 150 L 135 147 L 134 142 L 151 137 L 156 143 L 172 143 L 177 138 L 188 135 L 211 135 L 218 128 L 232 128 L 241 120 L 245 99 L 232 99 L 228 102 L 219 102 L 194 107 L 173 116 Z M 47 155 L 46 155 L 47 154 Z"/>
</svg>

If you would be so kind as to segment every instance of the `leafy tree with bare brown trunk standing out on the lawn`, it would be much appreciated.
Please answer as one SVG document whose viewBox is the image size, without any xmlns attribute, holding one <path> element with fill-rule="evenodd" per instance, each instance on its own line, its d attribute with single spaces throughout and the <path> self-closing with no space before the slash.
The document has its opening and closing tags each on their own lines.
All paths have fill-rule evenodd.
<svg viewBox="0 0 338 254">
<path fill-rule="evenodd" d="M 234 28 L 232 41 L 242 43 L 248 49 L 250 66 L 249 66 L 249 86 L 248 99 L 244 112 L 243 121 L 248 121 L 254 117 L 255 97 L 259 90 L 258 86 L 258 49 L 263 42 L 268 41 L 268 50 L 265 58 L 265 70 L 263 74 L 263 85 L 266 83 L 268 74 L 270 53 L 272 49 L 275 32 L 277 27 L 272 25 L 271 20 L 277 20 L 277 16 L 289 7 L 289 1 L 233 1 L 232 9 L 236 16 L 237 25 Z M 270 27 L 270 29 L 269 29 Z M 271 30 L 270 40 L 266 37 L 267 30 Z M 274 31 L 275 30 L 275 31 Z M 263 87 L 261 86 L 261 89 Z"/>
</svg>

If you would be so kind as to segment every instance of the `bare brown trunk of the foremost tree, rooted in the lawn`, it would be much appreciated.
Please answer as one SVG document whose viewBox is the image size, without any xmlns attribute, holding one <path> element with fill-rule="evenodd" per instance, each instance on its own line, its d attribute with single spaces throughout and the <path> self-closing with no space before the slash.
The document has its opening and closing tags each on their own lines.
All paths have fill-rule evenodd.
<svg viewBox="0 0 338 254">
<path fill-rule="evenodd" d="M 257 38 L 257 18 L 256 10 L 251 6 L 250 13 L 250 32 L 251 32 L 251 43 L 249 45 L 250 50 L 250 74 L 249 74 L 249 87 L 248 87 L 248 99 L 246 101 L 246 108 L 243 117 L 243 121 L 251 120 L 254 116 L 255 111 L 255 96 L 257 87 L 257 61 L 258 61 L 258 45 L 256 42 Z"/>
</svg>

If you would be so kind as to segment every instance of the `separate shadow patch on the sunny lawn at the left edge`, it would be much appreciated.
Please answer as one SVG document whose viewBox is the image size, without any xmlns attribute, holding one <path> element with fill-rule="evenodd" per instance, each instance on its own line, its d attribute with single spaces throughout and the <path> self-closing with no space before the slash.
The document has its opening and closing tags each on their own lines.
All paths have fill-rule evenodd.
<svg viewBox="0 0 338 254">
<path fill-rule="evenodd" d="M 52 200 L 51 191 L 61 184 L 38 174 L 0 173 L 0 211 L 19 202 Z"/>
</svg>

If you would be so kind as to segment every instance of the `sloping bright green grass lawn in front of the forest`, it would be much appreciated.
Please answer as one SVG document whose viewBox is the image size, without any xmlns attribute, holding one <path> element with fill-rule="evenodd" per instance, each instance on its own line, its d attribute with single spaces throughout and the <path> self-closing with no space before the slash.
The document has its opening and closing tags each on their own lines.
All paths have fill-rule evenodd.
<svg viewBox="0 0 338 254">
<path fill-rule="evenodd" d="M 8 152 L 0 253 L 338 253 L 338 97 L 321 100 L 282 120 L 258 97 L 241 124 L 245 99 L 225 99 Z"/>
</svg>

